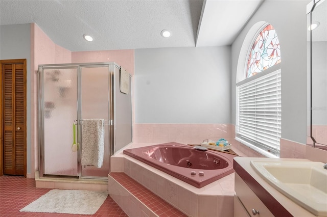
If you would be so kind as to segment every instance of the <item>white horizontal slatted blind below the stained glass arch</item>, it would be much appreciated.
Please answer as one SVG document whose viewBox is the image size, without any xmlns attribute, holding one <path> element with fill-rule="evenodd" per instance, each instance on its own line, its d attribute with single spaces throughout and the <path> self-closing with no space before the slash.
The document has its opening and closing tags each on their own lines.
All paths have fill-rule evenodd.
<svg viewBox="0 0 327 217">
<path fill-rule="evenodd" d="M 281 138 L 281 69 L 238 87 L 237 137 L 279 156 Z"/>
</svg>

